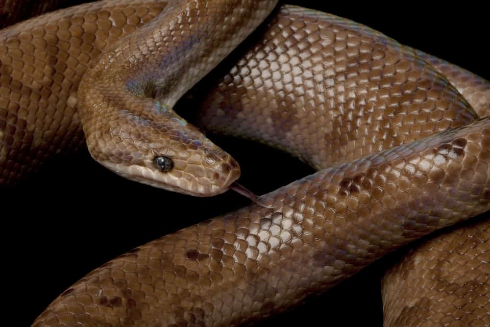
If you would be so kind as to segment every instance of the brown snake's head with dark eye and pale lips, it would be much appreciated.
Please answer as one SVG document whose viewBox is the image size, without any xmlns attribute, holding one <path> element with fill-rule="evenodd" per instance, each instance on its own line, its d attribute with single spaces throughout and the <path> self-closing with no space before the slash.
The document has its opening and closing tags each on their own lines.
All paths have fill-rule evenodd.
<svg viewBox="0 0 490 327">
<path fill-rule="evenodd" d="M 94 159 L 125 178 L 206 197 L 240 177 L 228 153 L 168 107 L 105 112 L 110 117 L 84 122 L 87 145 Z"/>
</svg>

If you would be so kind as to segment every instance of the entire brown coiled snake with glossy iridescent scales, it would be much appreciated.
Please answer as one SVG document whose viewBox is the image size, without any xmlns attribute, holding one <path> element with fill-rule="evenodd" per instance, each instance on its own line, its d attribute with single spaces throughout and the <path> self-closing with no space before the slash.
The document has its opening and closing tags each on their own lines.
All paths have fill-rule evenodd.
<svg viewBox="0 0 490 327">
<path fill-rule="evenodd" d="M 195 83 L 203 77 L 262 21 L 275 1 L 120 2 L 74 7 L 2 31 L 1 153 L 9 150 L 8 159 L 0 160 L 2 182 L 27 173 L 33 166 L 31 156 L 40 161 L 46 154 L 79 145 L 83 126 L 91 154 L 120 175 L 157 187 L 162 187 L 163 181 L 167 183 L 164 188 L 192 195 L 202 195 L 196 192 L 203 189 L 212 194 L 223 192 L 238 177 L 238 164 L 173 112 L 173 104 L 192 86 L 190 82 L 176 88 L 166 83 L 173 84 L 177 77 Z M 145 5 L 146 10 L 141 9 Z M 261 11 L 262 18 L 255 16 Z M 134 25 L 127 27 L 133 33 L 108 49 L 100 49 L 112 43 L 104 37 L 118 38 L 123 33 L 121 27 L 134 22 L 135 15 L 137 24 L 151 22 L 137 30 Z M 192 24 L 180 25 L 187 19 L 202 19 L 209 25 L 197 28 L 197 34 L 185 30 L 182 35 L 187 39 L 172 37 L 175 44 L 163 37 L 172 43 L 170 52 L 165 52 L 155 38 L 174 35 L 165 34 L 175 31 L 172 28 L 190 28 Z M 245 23 L 240 37 L 221 39 L 227 33 L 222 30 L 223 34 L 214 34 L 221 26 L 235 31 L 236 21 Z M 112 26 L 116 26 L 114 31 L 96 33 L 98 28 Z M 88 30 L 92 33 L 83 34 Z M 365 26 L 300 7 L 277 9 L 262 33 L 262 41 L 250 47 L 208 93 L 199 114 L 200 125 L 260 139 L 319 172 L 267 194 L 260 204 L 184 228 L 114 259 L 66 290 L 33 326 L 228 326 L 253 322 L 327 290 L 411 240 L 489 209 L 489 119 L 478 118 L 478 114 L 485 115 L 488 105 L 488 82 L 400 46 Z M 96 34 L 102 40 L 96 39 Z M 78 54 L 76 64 L 70 56 L 73 53 L 67 54 L 67 39 L 78 45 L 72 50 Z M 80 41 L 87 39 L 89 45 Z M 50 48 L 49 42 L 58 47 Z M 213 42 L 215 46 L 209 47 Z M 35 51 L 43 46 L 46 51 Z M 94 51 L 91 54 L 98 57 L 88 72 L 83 71 L 83 63 L 91 58 L 80 49 Z M 47 54 L 53 50 L 57 60 L 51 61 Z M 153 57 L 155 51 L 159 54 Z M 36 56 L 54 67 L 42 66 Z M 189 61 L 183 63 L 183 58 Z M 29 62 L 35 63 L 34 67 Z M 162 63 L 169 69 L 164 77 L 157 68 Z M 293 63 L 301 63 L 300 68 Z M 269 66 L 258 68 L 264 64 Z M 43 71 L 47 79 L 37 78 L 36 67 L 50 68 Z M 56 74 L 63 68 L 63 76 Z M 76 68 L 82 70 L 80 75 Z M 448 79 L 454 79 L 451 82 L 458 89 Z M 122 81 L 124 87 L 118 88 Z M 53 93 L 43 91 L 46 85 Z M 57 94 L 55 99 L 53 94 Z M 25 96 L 35 101 L 25 101 Z M 276 108 L 271 105 L 274 103 Z M 32 104 L 37 107 L 29 111 Z M 29 112 L 34 114 L 29 116 Z M 162 117 L 170 118 L 170 123 L 161 123 Z M 124 129 L 129 126 L 135 128 Z M 59 134 L 50 129 L 54 127 Z M 34 132 L 30 134 L 31 128 Z M 104 128 L 109 135 L 104 135 Z M 175 183 L 174 175 L 184 174 L 183 170 L 177 173 L 185 165 L 177 160 L 182 158 L 175 150 L 154 154 L 155 149 L 162 151 L 160 145 L 148 140 L 155 129 L 170 131 L 173 138 L 166 136 L 166 140 L 176 149 L 182 141 L 191 152 L 199 153 L 202 145 L 208 147 L 211 151 L 204 150 L 204 155 L 182 155 L 191 160 L 204 158 L 208 167 L 218 170 L 211 174 L 191 161 L 187 173 L 194 172 L 206 182 L 202 187 L 184 182 L 190 187 L 177 189 L 182 184 Z M 134 130 L 138 134 L 131 134 Z M 133 135 L 129 141 L 124 139 L 127 133 Z M 46 139 L 50 139 L 49 146 Z M 118 148 L 125 141 L 124 147 Z M 23 142 L 34 151 L 22 152 Z M 15 148 L 16 144 L 21 146 Z M 139 159 L 148 149 L 152 151 L 150 158 Z M 225 161 L 228 166 L 223 165 Z M 129 173 L 123 166 L 131 167 Z M 145 173 L 148 168 L 151 173 Z M 222 172 L 228 175 L 221 177 Z M 224 182 L 213 184 L 220 179 Z M 455 236 L 441 235 L 407 256 L 401 268 L 395 266 L 384 279 L 388 293 L 399 295 L 396 287 L 402 284 L 400 280 L 408 279 L 403 287 L 421 287 L 405 292 L 406 299 L 398 300 L 410 304 L 396 304 L 390 295 L 384 296 L 387 312 L 394 312 L 394 318 L 388 315 L 385 323 L 415 326 L 427 317 L 441 324 L 451 317 L 456 323 L 468 319 L 488 323 L 488 225 L 488 220 L 482 220 L 458 230 L 460 239 L 467 241 L 458 242 L 457 253 L 451 250 L 454 244 L 448 245 L 454 243 Z M 433 288 L 443 288 L 442 279 L 460 276 L 460 289 L 467 289 L 455 302 L 459 312 L 452 306 L 454 299 L 450 300 L 451 295 L 457 296 L 454 287 L 459 282 L 450 283 L 446 301 L 429 299 L 431 289 L 416 282 L 426 274 L 415 266 L 423 265 L 424 257 L 430 258 L 435 244 L 441 250 L 451 250 L 449 254 L 444 251 L 446 259 L 465 261 L 449 277 L 443 276 L 447 272 L 442 261 L 436 273 L 430 265 L 433 258 L 426 259 L 429 264 L 425 267 L 439 278 Z M 468 265 L 464 254 L 480 265 Z M 464 269 L 469 270 L 465 273 Z M 480 275 L 475 275 L 478 272 Z M 401 309 L 390 310 L 390 305 Z M 436 313 L 429 312 L 431 305 L 437 307 Z M 452 311 L 446 314 L 448 308 Z"/>
</svg>

